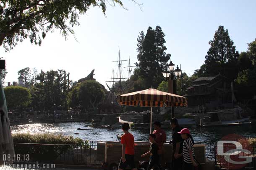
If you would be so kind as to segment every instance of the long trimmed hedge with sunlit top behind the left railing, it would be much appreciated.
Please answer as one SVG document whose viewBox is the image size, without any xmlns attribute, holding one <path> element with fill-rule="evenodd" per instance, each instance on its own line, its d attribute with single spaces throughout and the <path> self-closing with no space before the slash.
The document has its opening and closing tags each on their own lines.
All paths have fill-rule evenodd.
<svg viewBox="0 0 256 170">
<path fill-rule="evenodd" d="M 14 150 L 16 155 L 29 155 L 33 161 L 53 161 L 59 155 L 78 148 L 74 145 L 84 145 L 87 148 L 88 141 L 62 134 L 13 134 Z M 18 144 L 17 144 L 18 143 Z M 19 144 L 23 143 L 23 144 Z M 26 143 L 26 144 L 25 144 Z M 34 144 L 32 144 L 34 143 Z M 57 145 L 41 145 L 57 144 Z M 21 156 L 22 157 L 22 156 Z"/>
</svg>

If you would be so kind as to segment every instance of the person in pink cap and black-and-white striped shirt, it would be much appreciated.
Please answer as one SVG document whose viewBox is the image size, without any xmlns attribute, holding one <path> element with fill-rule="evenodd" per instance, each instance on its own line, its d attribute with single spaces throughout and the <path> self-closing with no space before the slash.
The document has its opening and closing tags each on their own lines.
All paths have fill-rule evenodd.
<svg viewBox="0 0 256 170">
<path fill-rule="evenodd" d="M 195 153 L 194 153 L 194 140 L 189 132 L 188 128 L 181 129 L 178 134 L 181 135 L 183 141 L 183 149 L 182 149 L 182 154 L 179 156 L 183 156 L 183 165 L 182 169 L 183 170 L 193 170 L 193 167 L 198 166 L 196 164 L 196 159 L 195 159 Z"/>
</svg>

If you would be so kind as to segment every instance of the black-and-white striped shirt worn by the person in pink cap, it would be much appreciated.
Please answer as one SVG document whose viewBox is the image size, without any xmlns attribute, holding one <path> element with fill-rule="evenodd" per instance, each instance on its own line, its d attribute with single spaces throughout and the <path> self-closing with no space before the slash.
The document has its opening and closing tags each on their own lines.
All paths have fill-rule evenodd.
<svg viewBox="0 0 256 170">
<path fill-rule="evenodd" d="M 191 140 L 190 137 L 188 137 L 187 139 L 185 139 L 183 141 L 182 153 L 183 153 L 183 160 L 186 163 L 192 164 L 192 161 L 191 161 L 190 156 L 189 156 L 189 150 L 192 150 L 192 155 L 193 155 L 193 157 L 195 157 L 194 147 L 193 146 L 194 146 L 194 144 L 193 144 L 193 141 Z"/>
</svg>

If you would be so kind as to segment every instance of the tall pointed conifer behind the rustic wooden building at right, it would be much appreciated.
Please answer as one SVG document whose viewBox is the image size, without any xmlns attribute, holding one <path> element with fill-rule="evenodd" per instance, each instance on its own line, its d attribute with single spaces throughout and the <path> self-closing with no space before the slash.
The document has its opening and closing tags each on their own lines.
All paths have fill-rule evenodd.
<svg viewBox="0 0 256 170">
<path fill-rule="evenodd" d="M 211 47 L 205 56 L 205 74 L 207 76 L 222 74 L 230 80 L 235 79 L 239 71 L 237 69 L 239 53 L 230 40 L 228 30 L 225 30 L 224 26 L 219 26 L 209 45 Z"/>
</svg>

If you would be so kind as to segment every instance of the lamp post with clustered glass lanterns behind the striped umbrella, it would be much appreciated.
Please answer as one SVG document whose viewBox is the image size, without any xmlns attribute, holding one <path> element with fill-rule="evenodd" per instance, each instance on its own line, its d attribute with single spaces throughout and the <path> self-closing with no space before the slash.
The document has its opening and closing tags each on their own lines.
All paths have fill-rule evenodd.
<svg viewBox="0 0 256 170">
<path fill-rule="evenodd" d="M 176 91 L 176 81 L 180 78 L 182 70 L 177 65 L 177 68 L 174 70 L 175 64 L 170 61 L 168 64 L 169 71 L 163 71 L 162 74 L 165 79 L 168 80 L 168 93 L 177 94 Z M 174 107 L 172 107 L 172 117 L 174 116 Z"/>
</svg>

